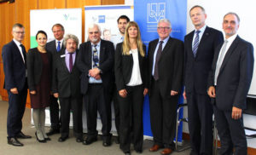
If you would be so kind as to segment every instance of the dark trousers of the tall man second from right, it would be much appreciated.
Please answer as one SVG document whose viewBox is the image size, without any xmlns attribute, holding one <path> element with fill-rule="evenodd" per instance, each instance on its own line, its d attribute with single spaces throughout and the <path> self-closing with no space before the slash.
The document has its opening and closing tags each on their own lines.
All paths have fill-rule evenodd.
<svg viewBox="0 0 256 155">
<path fill-rule="evenodd" d="M 187 93 L 192 152 L 212 154 L 212 104 L 208 95 Z"/>
</svg>

